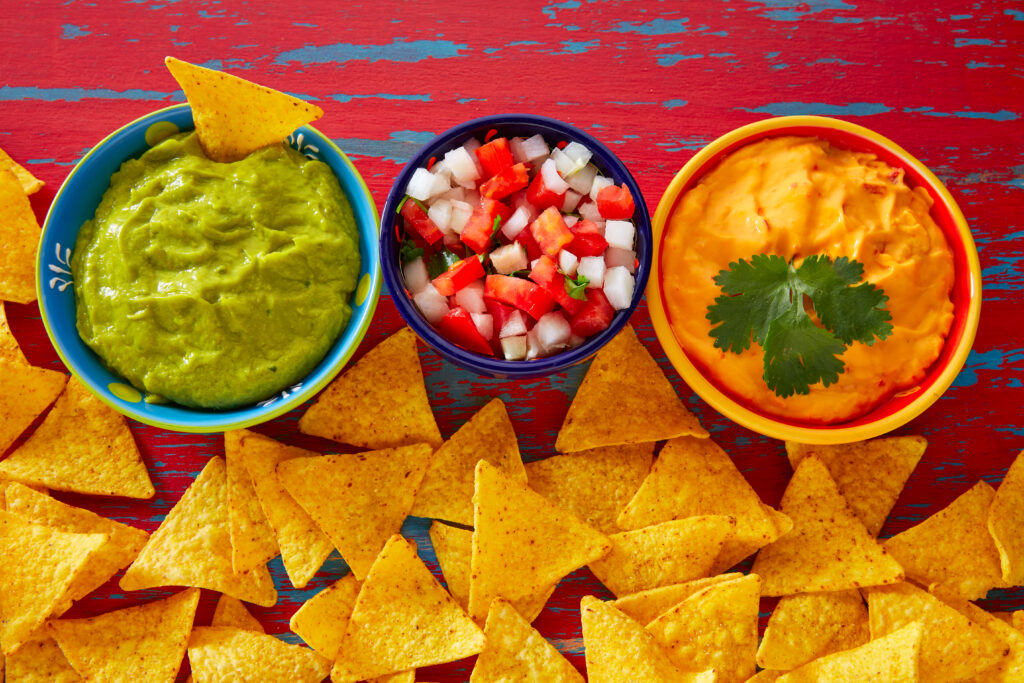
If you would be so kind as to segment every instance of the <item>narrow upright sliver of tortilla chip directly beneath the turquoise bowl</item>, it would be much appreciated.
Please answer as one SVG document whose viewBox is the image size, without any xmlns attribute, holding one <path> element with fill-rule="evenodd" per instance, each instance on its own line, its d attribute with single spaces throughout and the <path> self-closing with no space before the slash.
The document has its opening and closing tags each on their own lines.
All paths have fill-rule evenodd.
<svg viewBox="0 0 1024 683">
<path fill-rule="evenodd" d="M 231 565 L 248 571 L 278 556 L 278 539 L 263 514 L 252 477 L 242 460 L 242 439 L 249 432 L 224 433 L 224 461 L 227 464 L 227 516 L 231 531 Z"/>
</svg>

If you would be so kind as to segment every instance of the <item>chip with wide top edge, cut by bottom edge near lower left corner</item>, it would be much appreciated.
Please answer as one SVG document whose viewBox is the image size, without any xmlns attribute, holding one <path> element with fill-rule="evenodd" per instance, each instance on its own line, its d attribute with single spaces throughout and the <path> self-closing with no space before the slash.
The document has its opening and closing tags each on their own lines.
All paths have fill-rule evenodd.
<svg viewBox="0 0 1024 683">
<path fill-rule="evenodd" d="M 68 661 L 88 681 L 173 683 L 188 644 L 197 589 L 89 618 L 48 625 Z"/>
</svg>

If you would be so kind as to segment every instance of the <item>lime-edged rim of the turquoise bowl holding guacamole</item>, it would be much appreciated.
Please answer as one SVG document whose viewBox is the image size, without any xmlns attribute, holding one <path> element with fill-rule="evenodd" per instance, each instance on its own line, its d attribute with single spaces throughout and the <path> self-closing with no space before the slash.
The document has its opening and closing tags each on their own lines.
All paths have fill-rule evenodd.
<svg viewBox="0 0 1024 683">
<path fill-rule="evenodd" d="M 182 117 L 187 114 L 187 122 L 185 125 L 179 125 L 177 121 L 171 120 L 172 118 Z M 117 128 L 106 136 L 104 136 L 99 142 L 94 144 L 89 151 L 79 160 L 75 167 L 71 170 L 68 176 L 61 182 L 60 187 L 57 189 L 56 195 L 54 195 L 52 202 L 50 203 L 49 210 L 47 211 L 46 218 L 43 221 L 42 230 L 40 231 L 40 249 L 36 256 L 36 290 L 37 298 L 39 300 L 39 310 L 40 316 L 43 321 L 43 325 L 46 329 L 46 334 L 53 345 L 54 350 L 56 350 L 57 355 L 63 362 L 65 367 L 71 372 L 71 374 L 78 378 L 89 390 L 104 403 L 118 411 L 119 413 L 130 417 L 134 420 L 142 422 L 144 424 L 159 427 L 162 429 L 168 429 L 173 431 L 181 431 L 188 433 L 211 433 L 227 431 L 230 429 L 243 429 L 246 427 L 251 427 L 256 424 L 267 422 L 272 420 L 288 411 L 299 405 L 306 399 L 315 395 L 321 389 L 323 389 L 327 384 L 333 380 L 339 372 L 347 365 L 348 360 L 354 354 L 356 348 L 359 346 L 362 338 L 366 336 L 367 331 L 370 328 L 370 324 L 373 321 L 374 313 L 377 308 L 377 303 L 380 298 L 382 274 L 380 267 L 380 250 L 379 247 L 372 244 L 373 241 L 377 239 L 377 230 L 369 229 L 367 226 L 376 226 L 380 222 L 380 215 L 377 212 L 377 204 L 374 201 L 373 195 L 368 187 L 366 180 L 362 178 L 361 174 L 352 164 L 351 160 L 345 155 L 344 152 L 338 147 L 335 142 L 316 130 L 312 126 L 306 125 L 302 126 L 294 131 L 294 134 L 304 133 L 307 137 L 312 137 L 317 144 L 323 144 L 330 146 L 339 157 L 339 159 L 344 163 L 345 168 L 351 174 L 351 179 L 354 181 L 355 188 L 361 189 L 361 196 L 357 191 L 353 191 L 348 195 L 348 199 L 353 205 L 356 202 L 361 203 L 366 201 L 366 209 L 368 210 L 369 220 L 362 221 L 367 226 L 362 226 L 359 229 L 360 241 L 368 242 L 366 247 L 366 254 L 370 257 L 370 262 L 364 264 L 360 271 L 365 274 L 370 275 L 370 285 L 368 287 L 365 304 L 359 307 L 358 314 L 354 314 L 349 319 L 348 326 L 339 335 L 338 341 L 328 350 L 324 358 L 309 372 L 306 377 L 302 380 L 302 388 L 288 393 L 287 395 L 282 395 L 282 393 L 274 394 L 279 396 L 278 400 L 267 404 L 260 405 L 259 403 L 248 404 L 237 409 L 229 409 L 224 411 L 214 411 L 214 410 L 199 410 L 191 409 L 176 403 L 165 403 L 161 404 L 161 408 L 167 407 L 174 411 L 173 415 L 170 416 L 160 416 L 159 418 L 136 408 L 136 404 L 142 403 L 146 407 L 152 407 L 151 403 L 144 403 L 144 401 L 127 401 L 123 400 L 117 396 L 113 396 L 109 389 L 102 386 L 100 383 L 93 380 L 89 373 L 85 372 L 79 367 L 79 364 L 73 359 L 73 355 L 70 349 L 66 346 L 65 341 L 55 333 L 53 326 L 50 322 L 50 315 L 55 315 L 55 311 L 51 311 L 49 308 L 48 298 L 44 296 L 45 292 L 45 279 L 46 279 L 46 264 L 44 263 L 44 250 L 43 245 L 46 242 L 48 233 L 51 231 L 51 218 L 58 207 L 58 202 L 65 194 L 65 190 L 71 186 L 75 176 L 83 170 L 89 159 L 96 154 L 104 144 L 109 143 L 111 140 L 115 139 L 119 135 L 124 134 L 129 129 L 134 129 L 142 125 L 148 124 L 153 125 L 161 120 L 170 121 L 178 126 L 180 130 L 188 130 L 189 126 L 194 126 L 191 118 L 191 108 L 187 102 L 174 104 L 171 106 L 162 108 L 160 110 L 155 110 L 147 114 L 144 114 L 123 126 Z M 141 154 L 141 151 L 136 153 L 136 156 Z M 332 169 L 333 170 L 333 169 Z M 336 173 L 337 174 L 337 173 Z M 344 185 L 343 185 L 344 187 Z M 354 210 L 354 207 L 353 207 Z M 358 212 L 356 213 L 356 222 L 358 221 Z M 55 220 L 55 219 L 54 219 Z M 52 228 L 55 229 L 55 228 Z M 75 232 L 77 234 L 77 230 Z M 360 249 L 361 251 L 361 249 Z M 364 276 L 359 278 L 361 282 Z M 358 287 L 357 287 L 358 289 Z M 353 294 L 354 296 L 354 294 Z M 353 334 L 347 346 L 339 346 L 342 340 L 345 338 L 348 330 L 353 330 Z M 82 346 L 86 352 L 95 357 L 96 362 L 103 367 L 101 360 L 96 356 L 92 349 L 88 348 L 82 343 Z M 103 367 L 104 370 L 105 367 Z M 110 372 L 106 370 L 106 372 Z M 117 375 L 111 373 L 115 378 Z M 123 379 L 120 379 L 124 382 Z M 125 382 L 125 384 L 128 384 Z M 269 398 L 273 398 L 270 396 Z"/>
</svg>

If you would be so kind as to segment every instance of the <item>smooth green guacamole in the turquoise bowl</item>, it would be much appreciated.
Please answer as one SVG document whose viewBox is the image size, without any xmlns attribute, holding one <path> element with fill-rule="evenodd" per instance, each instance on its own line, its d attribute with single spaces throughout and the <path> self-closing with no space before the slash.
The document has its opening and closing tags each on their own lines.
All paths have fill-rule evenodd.
<svg viewBox="0 0 1024 683">
<path fill-rule="evenodd" d="M 351 315 L 358 233 L 323 162 L 279 144 L 221 164 L 189 133 L 111 177 L 72 271 L 78 332 L 114 373 L 227 409 L 324 357 Z"/>
</svg>

